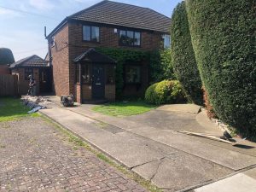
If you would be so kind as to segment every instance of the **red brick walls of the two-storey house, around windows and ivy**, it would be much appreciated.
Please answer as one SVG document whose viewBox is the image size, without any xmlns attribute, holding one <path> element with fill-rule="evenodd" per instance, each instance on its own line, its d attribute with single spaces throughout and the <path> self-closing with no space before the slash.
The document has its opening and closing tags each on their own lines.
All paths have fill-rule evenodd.
<svg viewBox="0 0 256 192">
<path fill-rule="evenodd" d="M 73 59 L 84 53 L 86 48 L 91 47 L 113 47 L 120 49 L 138 49 L 153 50 L 159 49 L 161 44 L 160 32 L 143 31 L 141 35 L 141 47 L 125 47 L 119 46 L 119 35 L 114 34 L 114 27 L 100 26 L 100 43 L 88 43 L 83 41 L 82 36 L 83 25 L 76 22 L 70 22 L 64 26 L 59 32 L 55 33 L 55 46 L 51 48 L 52 65 L 53 65 L 53 81 L 55 94 L 76 95 L 78 87 L 75 85 L 75 65 Z M 125 93 L 143 92 L 146 84 L 148 85 L 148 67 L 143 66 L 143 84 L 142 89 L 135 90 L 134 87 L 125 90 Z M 145 77 L 144 77 L 145 76 Z M 90 99 L 91 94 L 88 86 L 83 86 L 83 99 Z M 142 93 L 141 93 L 142 94 Z M 125 94 L 126 95 L 126 94 Z M 133 95 L 133 94 L 132 94 Z"/>
</svg>

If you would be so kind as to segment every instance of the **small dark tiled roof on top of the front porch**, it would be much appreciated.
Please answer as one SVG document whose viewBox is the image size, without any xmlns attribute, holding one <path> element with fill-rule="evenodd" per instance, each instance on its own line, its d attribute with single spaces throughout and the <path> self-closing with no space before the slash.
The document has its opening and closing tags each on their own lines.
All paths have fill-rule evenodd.
<svg viewBox="0 0 256 192">
<path fill-rule="evenodd" d="M 75 63 L 81 61 L 108 64 L 116 63 L 116 61 L 108 57 L 108 55 L 103 55 L 102 53 L 97 52 L 94 48 L 87 49 L 82 55 L 77 56 L 73 61 Z"/>
</svg>

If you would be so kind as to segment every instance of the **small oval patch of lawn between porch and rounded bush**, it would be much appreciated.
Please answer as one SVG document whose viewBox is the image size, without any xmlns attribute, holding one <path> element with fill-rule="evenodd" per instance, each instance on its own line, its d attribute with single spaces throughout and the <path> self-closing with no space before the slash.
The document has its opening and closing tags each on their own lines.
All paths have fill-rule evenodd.
<svg viewBox="0 0 256 192">
<path fill-rule="evenodd" d="M 131 102 L 110 102 L 104 105 L 92 108 L 93 111 L 108 114 L 111 116 L 130 116 L 150 111 L 156 108 L 156 105 L 148 104 L 143 101 Z"/>
</svg>

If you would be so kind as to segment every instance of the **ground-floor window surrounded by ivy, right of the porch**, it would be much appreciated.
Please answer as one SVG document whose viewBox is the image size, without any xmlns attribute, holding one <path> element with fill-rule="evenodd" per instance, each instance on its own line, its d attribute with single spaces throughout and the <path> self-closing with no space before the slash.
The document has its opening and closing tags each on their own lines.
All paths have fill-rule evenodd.
<svg viewBox="0 0 256 192">
<path fill-rule="evenodd" d="M 141 83 L 141 67 L 125 66 L 125 83 L 137 84 Z"/>
</svg>

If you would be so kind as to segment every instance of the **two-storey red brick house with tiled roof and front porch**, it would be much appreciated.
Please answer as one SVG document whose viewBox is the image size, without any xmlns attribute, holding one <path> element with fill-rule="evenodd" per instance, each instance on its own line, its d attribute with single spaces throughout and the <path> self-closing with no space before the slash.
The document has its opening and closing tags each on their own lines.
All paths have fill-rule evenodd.
<svg viewBox="0 0 256 192">
<path fill-rule="evenodd" d="M 70 15 L 46 37 L 57 96 L 115 100 L 113 58 L 96 48 L 152 51 L 170 46 L 171 19 L 152 9 L 104 0 Z M 143 95 L 148 61 L 124 64 L 124 96 Z"/>
</svg>

